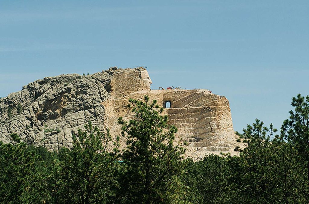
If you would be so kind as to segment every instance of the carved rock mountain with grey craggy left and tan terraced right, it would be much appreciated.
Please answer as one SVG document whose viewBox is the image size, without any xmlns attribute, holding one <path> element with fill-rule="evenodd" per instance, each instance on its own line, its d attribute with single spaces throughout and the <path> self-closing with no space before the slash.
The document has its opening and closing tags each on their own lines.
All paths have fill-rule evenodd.
<svg viewBox="0 0 309 204">
<path fill-rule="evenodd" d="M 205 153 L 231 152 L 234 134 L 229 101 L 208 90 L 150 90 L 145 68 L 117 69 L 92 75 L 59 75 L 36 80 L 20 92 L 0 99 L 0 140 L 9 142 L 11 133 L 22 140 L 58 150 L 72 145 L 72 131 L 91 121 L 112 136 L 119 135 L 117 118 L 132 115 L 129 98 L 142 100 L 148 95 L 165 106 L 169 123 L 178 128 L 176 139 L 189 142 L 187 156 L 194 159 Z M 124 146 L 125 140 L 121 140 Z"/>
</svg>

